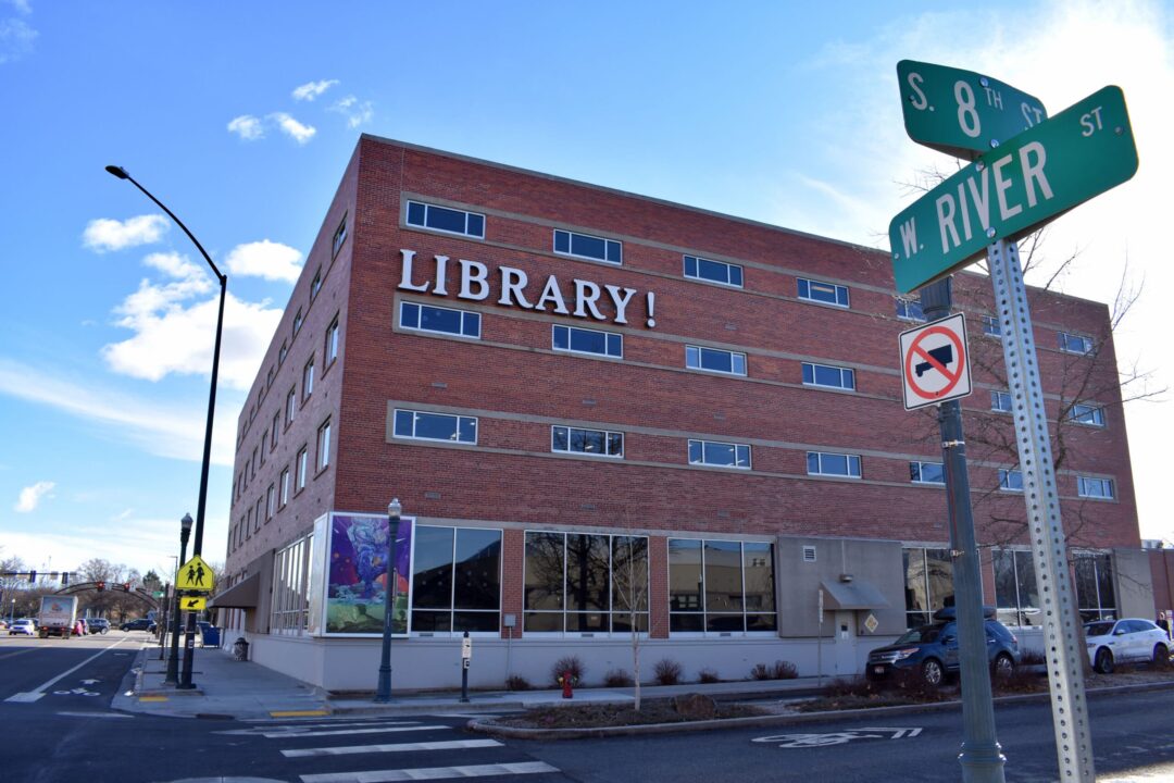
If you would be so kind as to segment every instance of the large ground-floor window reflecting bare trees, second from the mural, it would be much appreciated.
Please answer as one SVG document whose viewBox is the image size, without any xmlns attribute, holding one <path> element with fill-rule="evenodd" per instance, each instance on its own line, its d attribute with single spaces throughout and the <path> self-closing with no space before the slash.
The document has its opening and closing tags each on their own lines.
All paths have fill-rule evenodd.
<svg viewBox="0 0 1174 783">
<path fill-rule="evenodd" d="M 648 633 L 648 539 L 526 533 L 526 633 Z"/>
</svg>

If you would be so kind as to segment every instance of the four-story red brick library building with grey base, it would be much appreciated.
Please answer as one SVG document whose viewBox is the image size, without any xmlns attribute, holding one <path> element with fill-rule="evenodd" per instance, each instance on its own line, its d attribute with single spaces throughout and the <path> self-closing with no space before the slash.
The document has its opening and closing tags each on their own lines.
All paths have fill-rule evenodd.
<svg viewBox="0 0 1174 783">
<path fill-rule="evenodd" d="M 1030 637 L 986 278 L 956 299 L 984 600 Z M 1032 308 L 1078 601 L 1148 615 L 1108 310 Z M 919 319 L 873 249 L 364 135 L 241 414 L 220 622 L 373 688 L 398 498 L 397 688 L 459 682 L 465 630 L 485 687 L 630 671 L 633 627 L 687 677 L 856 673 L 951 601 Z"/>
</svg>

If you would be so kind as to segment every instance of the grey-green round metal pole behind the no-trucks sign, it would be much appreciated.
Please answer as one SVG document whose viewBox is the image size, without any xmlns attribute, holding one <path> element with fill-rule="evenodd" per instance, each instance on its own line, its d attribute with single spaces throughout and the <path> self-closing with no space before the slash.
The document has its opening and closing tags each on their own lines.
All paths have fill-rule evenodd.
<svg viewBox="0 0 1174 783">
<path fill-rule="evenodd" d="M 930 283 L 922 289 L 922 309 L 930 319 L 950 315 L 953 305 L 953 278 Z M 969 349 L 966 349 L 969 350 Z M 963 362 L 963 357 L 958 357 Z M 965 359 L 969 362 L 969 359 Z M 966 473 L 966 441 L 962 426 L 962 404 L 950 399 L 938 406 L 942 461 L 946 475 L 946 507 L 950 515 L 950 560 L 958 634 L 962 680 L 962 779 L 965 783 L 1003 783 L 1006 757 L 994 734 L 994 702 L 986 655 L 986 621 L 983 617 L 983 588 L 978 578 L 978 542 L 970 507 L 970 477 Z"/>
</svg>

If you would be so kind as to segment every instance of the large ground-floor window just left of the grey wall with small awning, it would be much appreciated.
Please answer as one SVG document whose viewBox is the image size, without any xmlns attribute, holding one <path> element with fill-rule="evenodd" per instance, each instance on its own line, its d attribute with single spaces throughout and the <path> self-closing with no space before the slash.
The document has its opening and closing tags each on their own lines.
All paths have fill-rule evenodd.
<svg viewBox="0 0 1174 783">
<path fill-rule="evenodd" d="M 770 544 L 668 540 L 669 632 L 777 632 Z"/>
</svg>

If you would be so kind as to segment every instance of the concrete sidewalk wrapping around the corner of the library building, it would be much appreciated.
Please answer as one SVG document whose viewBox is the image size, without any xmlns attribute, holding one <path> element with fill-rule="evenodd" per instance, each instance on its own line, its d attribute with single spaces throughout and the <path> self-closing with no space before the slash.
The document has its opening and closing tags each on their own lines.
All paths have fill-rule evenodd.
<svg viewBox="0 0 1174 783">
<path fill-rule="evenodd" d="M 225 650 L 196 648 L 193 661 L 193 690 L 178 690 L 163 684 L 166 661 L 157 646 L 144 647 L 135 660 L 113 707 L 129 713 L 170 717 L 234 717 L 262 720 L 316 715 L 404 715 L 420 713 L 491 713 L 512 711 L 542 704 L 583 702 L 630 703 L 632 688 L 578 688 L 574 700 L 562 698 L 560 690 L 470 691 L 468 702 L 460 701 L 460 690 L 409 691 L 392 689 L 392 702 L 377 704 L 375 694 L 325 694 L 299 680 L 278 674 L 251 661 L 236 661 Z M 182 664 L 182 652 L 181 652 Z M 372 683 L 376 671 L 371 673 Z M 394 673 L 392 673 L 394 683 Z M 824 677 L 824 683 L 828 679 Z M 797 680 L 689 683 L 682 686 L 645 686 L 642 697 L 664 698 L 701 693 L 717 700 L 796 698 L 816 688 L 815 677 Z"/>
</svg>

